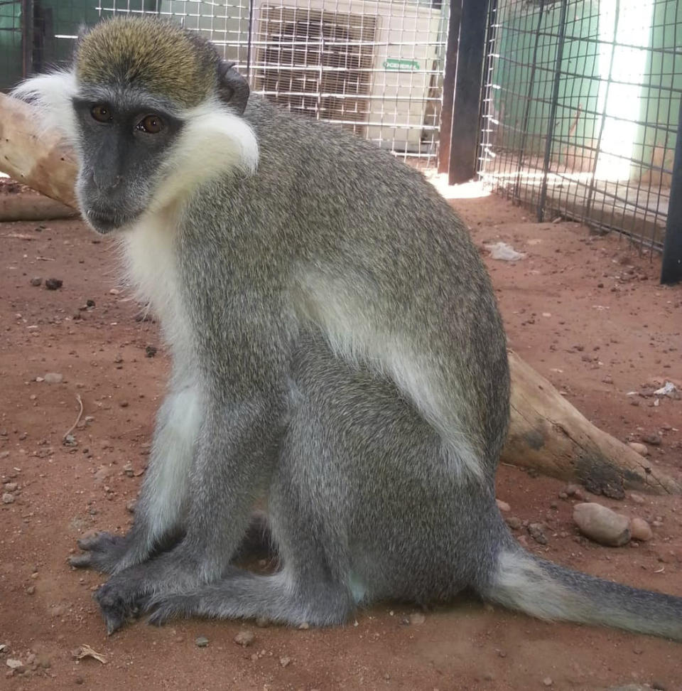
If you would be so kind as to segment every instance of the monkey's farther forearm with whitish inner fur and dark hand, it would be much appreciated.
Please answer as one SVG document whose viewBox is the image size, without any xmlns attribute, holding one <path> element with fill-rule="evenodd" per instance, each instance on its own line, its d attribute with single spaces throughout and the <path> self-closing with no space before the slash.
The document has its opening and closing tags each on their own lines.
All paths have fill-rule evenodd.
<svg viewBox="0 0 682 691">
<path fill-rule="evenodd" d="M 117 573 L 168 549 L 183 532 L 188 474 L 201 424 L 195 385 L 175 385 L 158 411 L 151 459 L 130 532 L 101 532 L 79 540 L 85 554 L 71 557 L 75 567 Z"/>
</svg>

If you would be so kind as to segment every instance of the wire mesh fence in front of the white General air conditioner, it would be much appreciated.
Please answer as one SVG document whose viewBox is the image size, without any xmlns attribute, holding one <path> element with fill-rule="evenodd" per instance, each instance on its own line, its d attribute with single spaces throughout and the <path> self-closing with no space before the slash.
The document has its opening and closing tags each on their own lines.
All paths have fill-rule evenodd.
<svg viewBox="0 0 682 691">
<path fill-rule="evenodd" d="M 5 14 L 13 27 L 0 60 L 15 60 L 0 87 L 68 60 L 81 24 L 156 14 L 209 38 L 254 92 L 433 166 L 448 8 L 441 0 L 0 0 L 0 30 Z"/>
</svg>

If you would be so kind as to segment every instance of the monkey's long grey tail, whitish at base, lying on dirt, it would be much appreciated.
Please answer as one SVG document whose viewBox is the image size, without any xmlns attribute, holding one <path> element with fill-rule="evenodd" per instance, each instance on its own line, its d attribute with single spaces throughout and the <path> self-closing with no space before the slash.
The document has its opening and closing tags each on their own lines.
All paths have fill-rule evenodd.
<svg viewBox="0 0 682 691">
<path fill-rule="evenodd" d="M 682 641 L 682 597 L 565 569 L 515 545 L 499 553 L 492 584 L 482 595 L 538 618 L 615 626 Z"/>
</svg>

